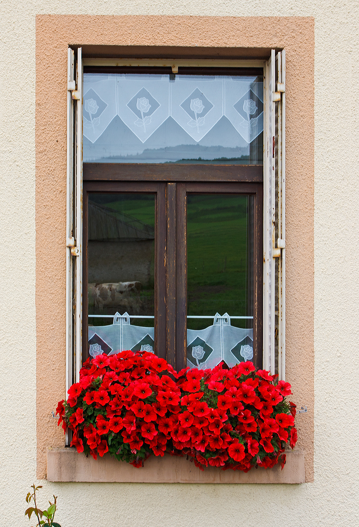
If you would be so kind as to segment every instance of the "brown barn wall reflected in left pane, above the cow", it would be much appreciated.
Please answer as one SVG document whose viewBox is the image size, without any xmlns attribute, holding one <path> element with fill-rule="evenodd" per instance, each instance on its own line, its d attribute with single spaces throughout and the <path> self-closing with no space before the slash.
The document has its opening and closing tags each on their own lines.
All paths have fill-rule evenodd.
<svg viewBox="0 0 359 527">
<path fill-rule="evenodd" d="M 153 284 L 154 240 L 89 241 L 88 281 L 96 284 L 137 280 Z"/>
</svg>

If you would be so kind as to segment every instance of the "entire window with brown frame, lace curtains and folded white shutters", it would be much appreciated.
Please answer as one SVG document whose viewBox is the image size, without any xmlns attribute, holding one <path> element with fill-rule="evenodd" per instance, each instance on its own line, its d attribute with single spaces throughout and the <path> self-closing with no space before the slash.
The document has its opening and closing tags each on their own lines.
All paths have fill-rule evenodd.
<svg viewBox="0 0 359 527">
<path fill-rule="evenodd" d="M 68 382 L 128 348 L 283 367 L 282 58 L 83 70 L 69 50 Z"/>
</svg>

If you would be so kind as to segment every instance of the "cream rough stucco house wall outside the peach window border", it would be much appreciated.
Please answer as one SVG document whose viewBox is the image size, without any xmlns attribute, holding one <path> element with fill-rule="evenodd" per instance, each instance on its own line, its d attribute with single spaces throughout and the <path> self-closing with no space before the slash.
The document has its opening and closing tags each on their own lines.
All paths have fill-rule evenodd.
<svg viewBox="0 0 359 527">
<path fill-rule="evenodd" d="M 35 15 L 83 13 L 314 17 L 314 482 L 211 486 L 42 481 L 41 503 L 45 495 L 59 496 L 57 521 L 63 527 L 357 525 L 358 8 L 354 3 L 282 2 L 278 7 L 271 2 L 179 0 L 83 2 L 76 9 L 63 2 L 59 11 L 58 4 L 44 1 L 15 8 L 3 3 L 1 11 L 0 523 L 28 525 L 24 496 L 36 481 Z M 305 136 L 306 130 L 301 133 Z M 48 321 L 50 327 L 56 323 Z M 53 353 L 50 370 L 57 363 L 56 346 Z M 52 417 L 48 419 L 51 426 Z"/>
</svg>

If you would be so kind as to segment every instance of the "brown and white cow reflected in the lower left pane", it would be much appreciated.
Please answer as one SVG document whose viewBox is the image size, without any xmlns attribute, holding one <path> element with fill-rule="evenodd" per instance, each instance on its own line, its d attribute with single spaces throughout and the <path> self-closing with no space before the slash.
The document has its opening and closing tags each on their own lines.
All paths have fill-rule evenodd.
<svg viewBox="0 0 359 527">
<path fill-rule="evenodd" d="M 139 314 L 142 301 L 139 297 L 141 282 L 115 282 L 112 284 L 89 284 L 88 302 L 100 311 L 104 308 L 119 308 Z"/>
</svg>

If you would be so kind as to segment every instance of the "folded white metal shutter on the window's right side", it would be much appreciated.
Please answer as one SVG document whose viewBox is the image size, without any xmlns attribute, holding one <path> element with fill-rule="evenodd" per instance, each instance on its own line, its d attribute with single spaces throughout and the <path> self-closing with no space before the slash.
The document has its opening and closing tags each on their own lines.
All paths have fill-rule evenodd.
<svg viewBox="0 0 359 527">
<path fill-rule="evenodd" d="M 277 65 L 277 71 L 276 71 Z M 277 82 L 276 82 L 277 81 Z M 285 371 L 285 51 L 275 57 L 275 50 L 264 72 L 264 167 L 263 167 L 263 368 L 275 373 L 275 261 L 278 261 L 278 373 Z M 277 123 L 277 126 L 275 124 Z M 275 188 L 275 173 L 278 188 Z M 275 192 L 278 211 L 275 211 Z M 276 214 L 277 212 L 277 214 Z M 278 240 L 275 240 L 275 217 Z"/>
</svg>

